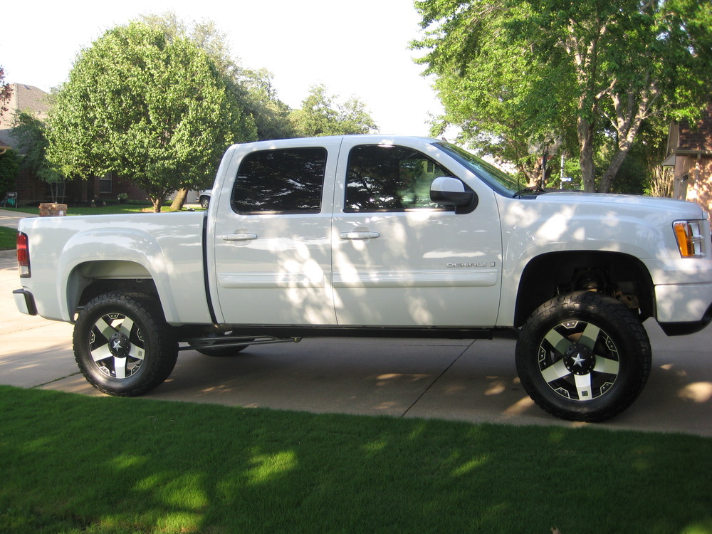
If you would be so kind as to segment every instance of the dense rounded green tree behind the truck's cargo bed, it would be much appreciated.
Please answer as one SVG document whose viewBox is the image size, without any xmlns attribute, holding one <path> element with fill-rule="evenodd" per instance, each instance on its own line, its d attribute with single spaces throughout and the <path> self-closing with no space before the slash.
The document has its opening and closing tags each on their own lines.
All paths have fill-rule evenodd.
<svg viewBox="0 0 712 534">
<path fill-rule="evenodd" d="M 226 145 L 253 140 L 255 127 L 208 53 L 133 22 L 80 53 L 47 137 L 48 159 L 62 174 L 116 172 L 160 211 L 174 190 L 208 182 Z"/>
</svg>

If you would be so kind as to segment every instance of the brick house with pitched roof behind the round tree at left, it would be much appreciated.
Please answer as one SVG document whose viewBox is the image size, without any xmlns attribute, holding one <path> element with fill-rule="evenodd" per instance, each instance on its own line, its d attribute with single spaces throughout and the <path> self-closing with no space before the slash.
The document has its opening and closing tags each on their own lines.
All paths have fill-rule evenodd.
<svg viewBox="0 0 712 534">
<path fill-rule="evenodd" d="M 51 103 L 48 100 L 49 95 L 33 85 L 22 83 L 10 85 L 12 97 L 6 105 L 8 110 L 0 115 L 0 147 L 2 147 L 0 150 L 13 148 L 23 155 L 26 148 L 18 146 L 19 143 L 11 133 L 14 112 L 30 110 L 39 120 L 44 120 Z M 21 169 L 14 191 L 17 192 L 19 204 L 48 202 L 54 196 L 65 204 L 89 204 L 91 201 L 100 204 L 105 201 L 116 201 L 121 193 L 127 194 L 132 200 L 147 199 L 146 192 L 137 187 L 134 182 L 121 179 L 114 173 L 103 177 L 67 179 L 57 184 L 48 184 L 26 169 Z"/>
</svg>

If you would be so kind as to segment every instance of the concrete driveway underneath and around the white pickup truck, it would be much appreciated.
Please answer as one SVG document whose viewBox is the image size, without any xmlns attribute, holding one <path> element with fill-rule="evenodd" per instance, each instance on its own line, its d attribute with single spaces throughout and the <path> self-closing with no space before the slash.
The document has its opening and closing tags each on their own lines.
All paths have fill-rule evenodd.
<svg viewBox="0 0 712 534">
<path fill-rule="evenodd" d="M 0 210 L 0 224 L 7 211 Z M 15 221 L 16 224 L 16 221 Z M 0 253 L 0 384 L 102 396 L 78 371 L 72 325 L 22 315 L 14 253 Z M 645 323 L 653 368 L 641 396 L 604 429 L 712 436 L 712 327 L 666 337 Z M 515 336 L 494 340 L 305 339 L 248 347 L 235 357 L 180 352 L 146 398 L 307 412 L 466 422 L 586 426 L 543 412 L 520 385 Z"/>
</svg>

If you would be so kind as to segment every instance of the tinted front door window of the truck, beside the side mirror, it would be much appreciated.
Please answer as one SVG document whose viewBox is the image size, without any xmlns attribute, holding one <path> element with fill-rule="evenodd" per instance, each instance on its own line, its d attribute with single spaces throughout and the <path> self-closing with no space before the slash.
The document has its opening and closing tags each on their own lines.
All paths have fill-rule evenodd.
<svg viewBox="0 0 712 534">
<path fill-rule="evenodd" d="M 440 208 L 430 185 L 453 176 L 429 157 L 405 147 L 362 145 L 349 155 L 344 211 Z"/>
</svg>

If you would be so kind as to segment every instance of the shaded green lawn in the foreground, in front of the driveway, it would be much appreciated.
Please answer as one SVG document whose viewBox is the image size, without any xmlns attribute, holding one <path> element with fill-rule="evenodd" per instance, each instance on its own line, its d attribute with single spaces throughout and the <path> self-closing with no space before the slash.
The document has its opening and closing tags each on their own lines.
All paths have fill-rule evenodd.
<svg viewBox="0 0 712 534">
<path fill-rule="evenodd" d="M 0 387 L 0 532 L 712 533 L 712 440 Z"/>
</svg>

